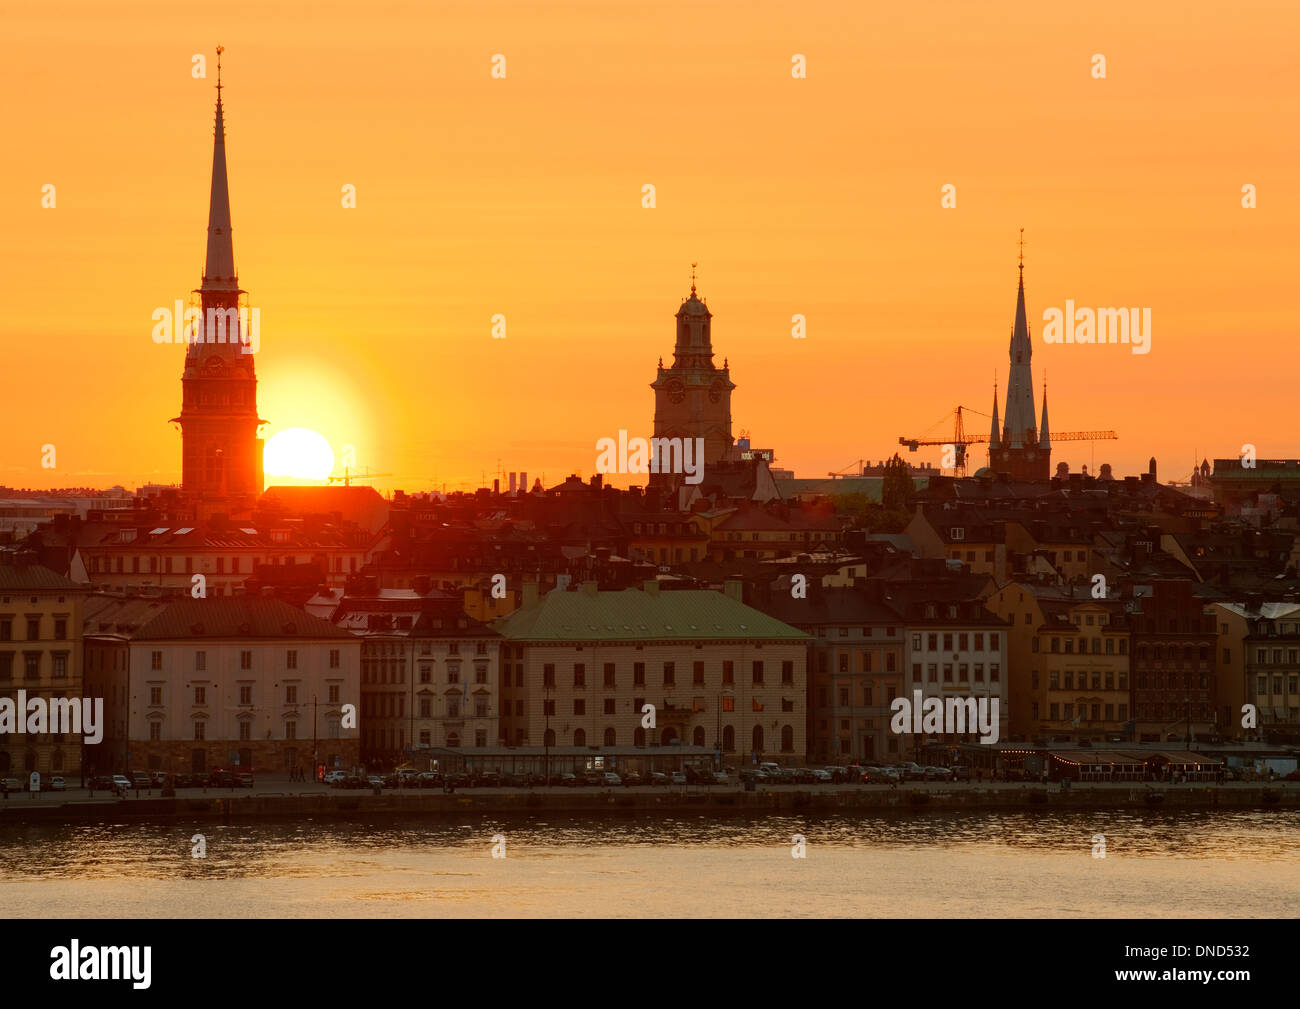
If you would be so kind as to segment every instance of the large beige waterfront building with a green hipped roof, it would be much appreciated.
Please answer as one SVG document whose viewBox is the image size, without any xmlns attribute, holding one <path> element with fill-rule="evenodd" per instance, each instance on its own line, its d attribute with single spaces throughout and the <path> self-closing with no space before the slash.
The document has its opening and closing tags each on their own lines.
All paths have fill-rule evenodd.
<svg viewBox="0 0 1300 1009">
<path fill-rule="evenodd" d="M 585 584 L 528 594 L 495 628 L 508 744 L 807 755 L 809 636 L 731 594 Z"/>
</svg>

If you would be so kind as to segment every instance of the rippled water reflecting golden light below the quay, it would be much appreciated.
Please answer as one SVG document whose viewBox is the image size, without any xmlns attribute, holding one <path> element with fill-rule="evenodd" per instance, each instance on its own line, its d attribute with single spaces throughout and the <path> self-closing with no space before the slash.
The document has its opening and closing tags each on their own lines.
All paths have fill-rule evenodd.
<svg viewBox="0 0 1300 1009">
<path fill-rule="evenodd" d="M 0 827 L 16 918 L 1297 913 L 1288 810 Z"/>
</svg>

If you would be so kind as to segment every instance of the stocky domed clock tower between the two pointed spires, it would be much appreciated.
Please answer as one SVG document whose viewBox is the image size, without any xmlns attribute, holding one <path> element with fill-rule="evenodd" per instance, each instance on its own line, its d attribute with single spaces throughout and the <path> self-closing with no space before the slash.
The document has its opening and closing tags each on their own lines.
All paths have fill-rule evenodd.
<svg viewBox="0 0 1300 1009">
<path fill-rule="evenodd" d="M 714 364 L 708 306 L 696 294 L 696 274 L 690 274 L 690 296 L 677 309 L 677 343 L 672 367 L 659 359 L 654 389 L 654 436 L 656 438 L 703 438 L 705 465 L 727 459 L 732 447 L 731 394 L 736 387 L 727 361 Z"/>
</svg>

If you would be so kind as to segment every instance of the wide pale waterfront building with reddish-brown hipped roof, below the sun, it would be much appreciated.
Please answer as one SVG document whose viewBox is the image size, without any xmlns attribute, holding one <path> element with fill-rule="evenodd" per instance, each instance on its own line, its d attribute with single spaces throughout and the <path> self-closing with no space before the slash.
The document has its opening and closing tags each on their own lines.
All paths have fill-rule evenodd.
<svg viewBox="0 0 1300 1009">
<path fill-rule="evenodd" d="M 120 698 L 100 772 L 358 763 L 361 644 L 328 620 L 273 598 L 122 599 L 86 641 L 87 679 Z"/>
</svg>

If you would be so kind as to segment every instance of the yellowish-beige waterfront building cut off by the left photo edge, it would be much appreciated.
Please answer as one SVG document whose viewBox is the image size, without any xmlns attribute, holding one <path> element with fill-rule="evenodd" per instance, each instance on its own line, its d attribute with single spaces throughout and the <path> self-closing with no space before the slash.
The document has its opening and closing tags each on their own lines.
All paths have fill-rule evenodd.
<svg viewBox="0 0 1300 1009">
<path fill-rule="evenodd" d="M 84 697 L 82 610 L 87 588 L 36 564 L 0 564 L 0 697 Z M 22 715 L 23 713 L 16 711 Z M 26 722 L 23 723 L 26 724 Z M 47 728 L 51 727 L 47 723 Z M 79 778 L 82 736 L 60 732 L 0 735 L 0 776 L 26 785 L 42 778 Z"/>
</svg>

